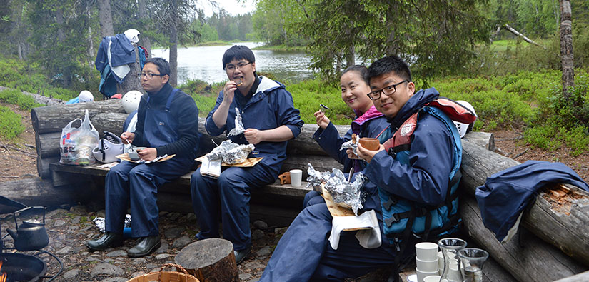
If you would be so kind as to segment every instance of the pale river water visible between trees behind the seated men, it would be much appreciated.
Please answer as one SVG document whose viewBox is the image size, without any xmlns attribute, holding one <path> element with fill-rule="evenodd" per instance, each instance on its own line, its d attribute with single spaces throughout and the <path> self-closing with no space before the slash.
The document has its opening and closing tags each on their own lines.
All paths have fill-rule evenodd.
<svg viewBox="0 0 589 282">
<path fill-rule="evenodd" d="M 241 42 L 240 45 L 254 48 L 256 42 Z M 208 83 L 227 80 L 223 71 L 223 54 L 231 46 L 178 47 L 178 84 L 188 79 L 200 79 Z M 153 49 L 152 56 L 169 60 L 169 49 Z M 311 58 L 300 51 L 253 50 L 256 56 L 256 70 L 271 72 L 278 81 L 301 81 L 312 79 L 309 69 Z"/>
</svg>

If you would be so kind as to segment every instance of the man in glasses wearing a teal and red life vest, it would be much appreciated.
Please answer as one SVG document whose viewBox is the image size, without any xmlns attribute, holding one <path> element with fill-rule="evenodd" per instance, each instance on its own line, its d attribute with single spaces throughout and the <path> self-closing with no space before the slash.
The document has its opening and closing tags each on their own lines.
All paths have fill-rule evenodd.
<svg viewBox="0 0 589 282">
<path fill-rule="evenodd" d="M 358 144 L 358 156 L 368 163 L 366 201 L 358 214 L 373 210 L 378 225 L 370 236 L 343 231 L 332 245 L 333 217 L 326 204 L 308 206 L 278 242 L 261 282 L 343 281 L 378 268 L 397 269 L 415 256 L 418 238 L 432 241 L 455 231 L 458 199 L 453 195 L 462 151 L 453 122 L 427 106 L 437 101 L 438 91 L 416 91 L 408 65 L 398 56 L 375 61 L 368 77 L 368 96 L 390 126 L 379 136 L 378 150 Z"/>
</svg>

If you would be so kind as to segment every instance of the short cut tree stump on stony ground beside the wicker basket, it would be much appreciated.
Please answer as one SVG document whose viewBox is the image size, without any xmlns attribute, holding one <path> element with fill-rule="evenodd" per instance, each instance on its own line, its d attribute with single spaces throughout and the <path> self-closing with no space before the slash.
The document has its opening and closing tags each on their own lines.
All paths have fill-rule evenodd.
<svg viewBox="0 0 589 282">
<path fill-rule="evenodd" d="M 210 238 L 191 243 L 176 255 L 174 261 L 201 282 L 239 281 L 233 244 L 224 239 Z"/>
</svg>

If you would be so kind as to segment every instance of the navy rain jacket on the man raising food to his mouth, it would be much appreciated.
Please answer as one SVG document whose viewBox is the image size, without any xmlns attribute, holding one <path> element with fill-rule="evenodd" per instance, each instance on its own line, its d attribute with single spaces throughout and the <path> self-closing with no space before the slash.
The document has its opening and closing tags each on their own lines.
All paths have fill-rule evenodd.
<svg viewBox="0 0 589 282">
<path fill-rule="evenodd" d="M 288 126 L 288 129 L 291 129 L 294 138 L 301 133 L 303 121 L 301 121 L 300 112 L 294 107 L 293 96 L 286 91 L 283 84 L 267 77 L 259 77 L 261 81 L 258 89 L 256 89 L 256 93 L 253 94 L 245 106 L 238 106 L 236 99 L 233 99 L 229 107 L 226 124 L 221 128 L 218 128 L 215 121 L 213 121 L 213 114 L 223 101 L 223 91 L 219 93 L 215 107 L 206 116 L 205 129 L 209 135 L 218 136 L 225 131 L 229 132 L 235 128 L 235 108 L 238 108 L 240 111 L 244 129 L 267 130 L 276 129 L 279 126 L 285 125 Z M 236 90 L 235 95 L 242 94 Z M 243 134 L 231 136 L 229 139 L 233 143 L 248 144 Z M 286 141 L 262 141 L 255 145 L 256 149 L 251 153 L 251 156 L 263 156 L 261 162 L 278 173 L 282 162 L 286 159 L 286 143 Z"/>
</svg>

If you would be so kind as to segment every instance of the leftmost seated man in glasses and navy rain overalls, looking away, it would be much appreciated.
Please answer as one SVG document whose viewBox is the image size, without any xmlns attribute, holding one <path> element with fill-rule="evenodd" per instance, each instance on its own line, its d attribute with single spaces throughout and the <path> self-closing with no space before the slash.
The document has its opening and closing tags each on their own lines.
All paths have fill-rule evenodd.
<svg viewBox="0 0 589 282">
<path fill-rule="evenodd" d="M 139 163 L 122 161 L 106 174 L 106 233 L 86 243 L 92 251 L 121 246 L 126 203 L 131 202 L 131 236 L 139 238 L 129 257 L 147 256 L 161 246 L 158 228 L 158 187 L 191 169 L 198 148 L 198 108 L 188 96 L 168 83 L 170 65 L 150 58 L 139 74 L 147 92 L 139 102 L 134 132 L 124 132 L 124 143 L 146 147 Z M 150 162 L 173 156 L 167 161 Z"/>
</svg>

